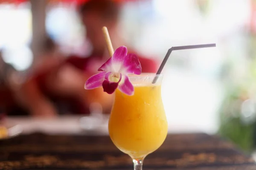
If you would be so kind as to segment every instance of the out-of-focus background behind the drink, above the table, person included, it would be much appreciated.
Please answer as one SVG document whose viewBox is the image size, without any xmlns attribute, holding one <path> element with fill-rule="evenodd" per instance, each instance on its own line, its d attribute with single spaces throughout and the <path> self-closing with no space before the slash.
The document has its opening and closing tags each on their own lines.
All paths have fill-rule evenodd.
<svg viewBox="0 0 256 170">
<path fill-rule="evenodd" d="M 113 96 L 84 90 L 108 58 L 104 25 L 143 72 L 172 46 L 216 43 L 172 52 L 162 89 L 170 131 L 219 133 L 253 151 L 256 0 L 0 0 L 2 117 L 110 113 Z"/>
</svg>

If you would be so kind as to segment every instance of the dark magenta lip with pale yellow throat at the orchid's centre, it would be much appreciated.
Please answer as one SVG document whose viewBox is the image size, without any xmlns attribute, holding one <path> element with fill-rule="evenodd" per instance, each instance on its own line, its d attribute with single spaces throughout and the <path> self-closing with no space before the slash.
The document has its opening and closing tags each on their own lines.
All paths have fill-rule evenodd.
<svg viewBox="0 0 256 170">
<path fill-rule="evenodd" d="M 110 80 L 113 80 L 114 76 L 115 76 L 114 74 L 112 74 L 111 72 L 108 72 L 105 75 L 105 80 L 102 82 L 103 90 L 105 92 L 107 92 L 108 94 L 112 94 L 116 90 L 116 88 L 118 87 L 119 82 L 122 79 L 122 74 L 119 74 L 119 80 L 118 81 L 113 81 L 113 82 L 110 81 Z"/>
</svg>

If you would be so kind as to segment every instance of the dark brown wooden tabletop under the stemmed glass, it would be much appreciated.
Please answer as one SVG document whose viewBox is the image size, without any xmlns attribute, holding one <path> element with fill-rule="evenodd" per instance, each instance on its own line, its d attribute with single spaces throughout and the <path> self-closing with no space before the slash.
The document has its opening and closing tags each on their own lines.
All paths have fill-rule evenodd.
<svg viewBox="0 0 256 170">
<path fill-rule="evenodd" d="M 41 133 L 0 141 L 0 170 L 133 170 L 109 136 Z M 256 170 L 249 156 L 218 136 L 170 134 L 144 170 Z"/>
</svg>

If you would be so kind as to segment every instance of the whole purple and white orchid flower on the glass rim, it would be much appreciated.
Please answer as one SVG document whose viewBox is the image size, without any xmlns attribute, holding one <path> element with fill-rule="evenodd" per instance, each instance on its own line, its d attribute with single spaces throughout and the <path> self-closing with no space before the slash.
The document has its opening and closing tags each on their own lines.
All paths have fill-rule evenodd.
<svg viewBox="0 0 256 170">
<path fill-rule="evenodd" d="M 122 93 L 133 95 L 134 87 L 128 74 L 141 74 L 141 65 L 136 54 L 127 54 L 127 48 L 121 46 L 98 71 L 101 72 L 87 79 L 85 89 L 103 87 L 105 92 L 112 94 L 118 88 Z"/>
</svg>

